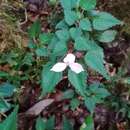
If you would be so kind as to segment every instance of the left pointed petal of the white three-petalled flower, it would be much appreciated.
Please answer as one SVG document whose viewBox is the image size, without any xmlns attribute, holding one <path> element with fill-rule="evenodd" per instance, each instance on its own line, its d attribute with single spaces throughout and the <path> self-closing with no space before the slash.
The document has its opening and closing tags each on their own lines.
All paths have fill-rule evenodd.
<svg viewBox="0 0 130 130">
<path fill-rule="evenodd" d="M 51 71 L 62 72 L 66 69 L 66 67 L 67 67 L 67 64 L 62 63 L 62 62 L 58 62 L 51 68 Z"/>
</svg>

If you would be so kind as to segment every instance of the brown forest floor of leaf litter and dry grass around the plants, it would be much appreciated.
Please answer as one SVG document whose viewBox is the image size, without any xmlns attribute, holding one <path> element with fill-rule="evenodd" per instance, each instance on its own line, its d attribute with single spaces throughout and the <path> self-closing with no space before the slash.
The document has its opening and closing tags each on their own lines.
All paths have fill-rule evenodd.
<svg viewBox="0 0 130 130">
<path fill-rule="evenodd" d="M 97 9 L 110 12 L 125 23 L 122 27 L 116 28 L 119 32 L 118 37 L 111 46 L 104 48 L 104 52 L 106 61 L 113 64 L 112 71 L 117 71 L 122 67 L 128 70 L 128 76 L 130 76 L 130 58 L 127 58 L 130 56 L 130 0 L 98 0 Z M 19 92 L 10 99 L 11 103 L 18 102 L 20 106 L 18 130 L 35 130 L 37 116 L 35 114 L 28 115 L 26 112 L 39 101 L 41 91 L 37 82 L 40 79 L 40 60 L 37 65 L 30 69 L 28 66 L 22 66 L 17 71 L 19 61 L 21 59 L 25 60 L 25 54 L 28 53 L 29 38 L 27 30 L 34 21 L 40 19 L 42 31 L 52 31 L 58 21 L 56 18 L 59 18 L 60 11 L 59 6 L 49 5 L 47 0 L 25 0 L 24 2 L 20 0 L 2 0 L 0 2 L 0 71 L 9 72 L 13 75 L 13 79 L 10 79 L 11 82 L 20 86 Z M 20 76 L 24 75 L 24 71 L 27 72 L 24 77 L 25 80 L 21 80 Z M 26 80 L 28 76 L 29 78 Z M 91 80 L 99 80 L 99 78 L 90 77 Z M 6 80 L 6 78 L 0 77 L 0 83 Z M 64 86 L 68 84 L 68 80 L 62 80 L 56 87 L 56 93 L 45 97 L 45 99 L 53 99 L 53 102 L 41 112 L 41 116 L 48 118 L 55 115 L 55 130 L 61 130 L 62 116 L 65 115 L 72 122 L 75 122 L 74 130 L 79 130 L 79 126 L 85 116 L 88 115 L 88 111 L 84 106 L 75 111 L 67 107 L 70 101 L 66 97 L 62 100 L 65 96 L 62 91 L 66 90 L 62 87 L 63 84 Z M 71 91 L 74 90 L 70 89 Z M 122 84 L 117 84 L 113 91 L 118 91 L 116 96 L 120 96 L 122 99 L 124 96 L 122 94 L 125 94 L 128 89 L 124 88 Z M 69 96 L 71 96 L 71 93 Z M 120 107 L 122 108 L 123 105 L 121 104 Z M 96 130 L 130 130 L 129 119 L 122 115 L 115 117 L 117 113 L 120 113 L 120 109 L 113 110 L 104 105 L 98 105 L 95 109 Z M 6 112 L 7 115 L 8 113 L 10 111 Z M 0 119 L 2 120 L 3 116 L 0 115 Z"/>
</svg>

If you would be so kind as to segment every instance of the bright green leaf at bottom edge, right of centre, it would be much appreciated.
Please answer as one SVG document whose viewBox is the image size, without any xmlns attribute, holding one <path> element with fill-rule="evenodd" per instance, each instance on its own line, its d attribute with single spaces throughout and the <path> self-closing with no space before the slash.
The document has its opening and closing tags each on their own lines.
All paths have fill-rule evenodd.
<svg viewBox="0 0 130 130">
<path fill-rule="evenodd" d="M 87 116 L 80 130 L 94 130 L 94 121 L 91 115 Z"/>
</svg>

